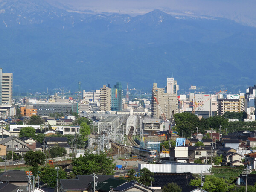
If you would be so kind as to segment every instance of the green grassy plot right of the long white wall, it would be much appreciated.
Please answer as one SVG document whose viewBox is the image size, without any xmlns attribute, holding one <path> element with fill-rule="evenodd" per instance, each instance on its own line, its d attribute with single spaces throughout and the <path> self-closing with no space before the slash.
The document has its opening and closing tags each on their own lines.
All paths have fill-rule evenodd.
<svg viewBox="0 0 256 192">
<path fill-rule="evenodd" d="M 233 168 L 233 167 L 212 167 L 212 173 L 215 177 L 238 177 L 244 168 Z"/>
</svg>

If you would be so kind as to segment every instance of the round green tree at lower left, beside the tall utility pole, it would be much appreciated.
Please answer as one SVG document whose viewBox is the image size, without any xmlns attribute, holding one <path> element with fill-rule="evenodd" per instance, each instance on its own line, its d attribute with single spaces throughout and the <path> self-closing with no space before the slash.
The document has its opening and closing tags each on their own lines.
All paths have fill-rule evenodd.
<svg viewBox="0 0 256 192">
<path fill-rule="evenodd" d="M 56 187 L 57 185 L 57 170 L 55 167 L 50 167 L 49 165 L 46 167 L 41 167 L 40 169 L 40 180 L 44 183 L 48 183 L 48 187 Z M 58 172 L 59 179 L 66 179 L 67 174 L 64 172 L 61 167 Z"/>
</svg>

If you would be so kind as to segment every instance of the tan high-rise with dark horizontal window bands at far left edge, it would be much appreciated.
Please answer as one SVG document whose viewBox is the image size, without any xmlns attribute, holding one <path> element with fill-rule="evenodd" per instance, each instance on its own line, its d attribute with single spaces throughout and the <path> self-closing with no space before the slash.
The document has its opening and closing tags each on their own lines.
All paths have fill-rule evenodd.
<svg viewBox="0 0 256 192">
<path fill-rule="evenodd" d="M 2 104 L 12 105 L 12 73 L 2 73 Z"/>
</svg>

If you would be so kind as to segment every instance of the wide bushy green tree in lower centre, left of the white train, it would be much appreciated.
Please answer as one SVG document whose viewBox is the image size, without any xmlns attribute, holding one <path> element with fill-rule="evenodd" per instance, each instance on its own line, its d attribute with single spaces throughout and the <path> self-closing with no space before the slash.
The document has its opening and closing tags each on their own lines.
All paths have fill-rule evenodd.
<svg viewBox="0 0 256 192">
<path fill-rule="evenodd" d="M 85 152 L 84 156 L 75 158 L 72 165 L 75 175 L 90 175 L 93 173 L 113 175 L 116 166 L 116 164 L 113 164 L 113 160 L 107 158 L 107 154 L 103 152 L 100 154 Z"/>
</svg>

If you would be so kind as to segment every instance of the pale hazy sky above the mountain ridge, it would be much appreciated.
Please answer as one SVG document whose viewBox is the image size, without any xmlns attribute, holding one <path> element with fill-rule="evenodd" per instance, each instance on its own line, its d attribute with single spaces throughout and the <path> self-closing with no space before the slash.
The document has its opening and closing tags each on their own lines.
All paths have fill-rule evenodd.
<svg viewBox="0 0 256 192">
<path fill-rule="evenodd" d="M 61 3 L 70 10 L 95 13 L 127 13 L 140 15 L 154 9 L 189 15 L 207 15 L 236 20 L 256 26 L 256 0 L 46 0 Z"/>
</svg>

